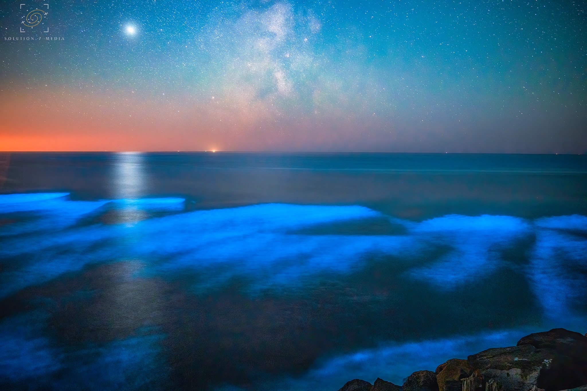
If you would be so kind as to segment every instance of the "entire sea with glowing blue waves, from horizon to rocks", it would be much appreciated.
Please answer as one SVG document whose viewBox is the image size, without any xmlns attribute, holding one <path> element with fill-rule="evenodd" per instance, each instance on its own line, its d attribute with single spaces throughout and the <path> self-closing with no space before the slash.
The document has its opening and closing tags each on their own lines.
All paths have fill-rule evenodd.
<svg viewBox="0 0 587 391">
<path fill-rule="evenodd" d="M 332 390 L 587 332 L 587 159 L 0 155 L 0 388 Z"/>
</svg>

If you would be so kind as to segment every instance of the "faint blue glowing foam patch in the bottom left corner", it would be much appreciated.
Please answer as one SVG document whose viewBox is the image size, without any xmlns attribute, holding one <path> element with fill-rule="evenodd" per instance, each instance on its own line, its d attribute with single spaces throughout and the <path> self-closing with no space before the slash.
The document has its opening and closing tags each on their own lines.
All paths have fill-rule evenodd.
<svg viewBox="0 0 587 391">
<path fill-rule="evenodd" d="M 56 389 L 71 389 L 87 379 L 92 379 L 92 389 L 117 389 L 127 385 L 129 377 L 137 379 L 140 387 L 164 373 L 157 356 L 161 335 L 134 336 L 71 351 L 39 337 L 41 328 L 42 322 L 30 313 L 0 323 L 0 379 L 22 382 L 66 368 L 68 376 L 52 383 Z M 80 360 L 82 356 L 86 359 Z"/>
</svg>

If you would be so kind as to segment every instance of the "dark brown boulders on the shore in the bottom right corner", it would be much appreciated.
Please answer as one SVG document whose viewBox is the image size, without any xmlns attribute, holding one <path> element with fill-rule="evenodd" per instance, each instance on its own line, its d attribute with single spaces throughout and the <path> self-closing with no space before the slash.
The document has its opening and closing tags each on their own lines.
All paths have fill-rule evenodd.
<svg viewBox="0 0 587 391">
<path fill-rule="evenodd" d="M 555 328 L 516 346 L 450 359 L 435 372 L 419 370 L 402 386 L 355 379 L 339 391 L 587 391 L 587 334 Z"/>
</svg>

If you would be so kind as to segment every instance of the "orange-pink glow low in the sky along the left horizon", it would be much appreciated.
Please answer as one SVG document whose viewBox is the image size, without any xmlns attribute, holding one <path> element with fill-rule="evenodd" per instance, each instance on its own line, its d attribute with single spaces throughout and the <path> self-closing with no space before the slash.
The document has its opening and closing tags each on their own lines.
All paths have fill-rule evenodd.
<svg viewBox="0 0 587 391">
<path fill-rule="evenodd" d="M 369 141 L 349 115 L 316 120 L 258 103 L 157 99 L 59 86 L 4 90 L 0 151 L 344 151 L 357 138 Z M 364 149 L 377 145 L 371 141 Z"/>
</svg>

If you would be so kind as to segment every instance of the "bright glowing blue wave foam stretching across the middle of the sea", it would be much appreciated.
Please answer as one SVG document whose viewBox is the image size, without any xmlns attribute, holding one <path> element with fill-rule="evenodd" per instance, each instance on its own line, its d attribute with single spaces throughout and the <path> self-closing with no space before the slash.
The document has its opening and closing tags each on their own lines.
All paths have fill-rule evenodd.
<svg viewBox="0 0 587 391">
<path fill-rule="evenodd" d="M 12 196 L 13 200 L 21 197 Z M 200 270 L 207 273 L 210 285 L 247 276 L 253 286 L 262 288 L 298 284 L 322 271 L 348 273 L 373 255 L 402 259 L 409 268 L 407 278 L 450 290 L 487 276 L 504 264 L 502 250 L 532 235 L 537 242 L 527 274 L 545 310 L 562 316 L 570 311 L 569 302 L 587 294 L 581 285 L 582 275 L 571 273 L 572 267 L 585 266 L 587 241 L 561 230 L 584 229 L 585 216 L 535 222 L 488 215 L 448 215 L 420 223 L 393 219 L 406 226 L 406 234 L 343 236 L 295 232 L 303 227 L 383 216 L 363 206 L 264 204 L 177 213 L 183 210 L 180 198 L 82 202 L 70 201 L 60 193 L 38 198 L 24 195 L 22 199 L 37 200 L 11 205 L 26 204 L 36 220 L 0 227 L 4 237 L 0 261 L 12 260 L 11 267 L 0 273 L 0 296 L 103 261 L 139 259 L 144 265 L 141 273 L 146 275 Z M 83 216 L 96 213 L 107 202 L 129 210 L 168 207 L 166 210 L 176 214 L 132 225 L 77 225 Z M 424 265 L 409 267 L 433 248 L 448 252 Z M 216 267 L 220 264 L 230 267 Z"/>
</svg>

